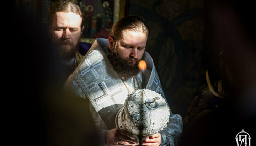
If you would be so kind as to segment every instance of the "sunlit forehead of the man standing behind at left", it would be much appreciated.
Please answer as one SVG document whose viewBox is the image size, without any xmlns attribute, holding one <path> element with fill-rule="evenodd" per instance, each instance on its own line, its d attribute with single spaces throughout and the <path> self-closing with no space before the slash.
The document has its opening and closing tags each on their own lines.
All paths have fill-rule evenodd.
<svg viewBox="0 0 256 146">
<path fill-rule="evenodd" d="M 53 16 L 53 22 L 54 21 L 57 23 L 57 25 L 69 23 L 69 25 L 80 26 L 82 23 L 82 18 L 80 15 L 73 12 L 56 12 Z"/>
</svg>

